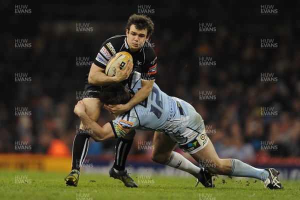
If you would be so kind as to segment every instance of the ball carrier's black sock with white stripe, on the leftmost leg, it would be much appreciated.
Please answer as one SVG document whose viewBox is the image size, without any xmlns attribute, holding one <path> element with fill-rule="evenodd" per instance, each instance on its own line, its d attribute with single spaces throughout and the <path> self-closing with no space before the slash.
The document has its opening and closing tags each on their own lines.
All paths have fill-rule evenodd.
<svg viewBox="0 0 300 200">
<path fill-rule="evenodd" d="M 84 130 L 79 129 L 79 133 L 75 135 L 72 149 L 72 170 L 80 170 L 88 149 L 89 135 Z"/>
</svg>

